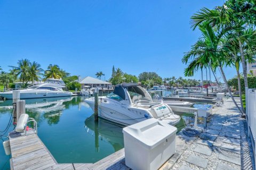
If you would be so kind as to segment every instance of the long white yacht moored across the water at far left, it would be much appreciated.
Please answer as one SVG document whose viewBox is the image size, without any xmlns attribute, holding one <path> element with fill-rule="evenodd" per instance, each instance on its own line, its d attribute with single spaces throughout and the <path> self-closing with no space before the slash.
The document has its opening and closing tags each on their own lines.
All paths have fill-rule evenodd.
<svg viewBox="0 0 256 170">
<path fill-rule="evenodd" d="M 44 83 L 36 84 L 27 89 L 21 89 L 20 99 L 46 98 L 46 97 L 65 97 L 73 95 L 68 91 L 63 80 L 46 79 Z M 0 92 L 0 96 L 12 99 L 13 91 Z"/>
</svg>

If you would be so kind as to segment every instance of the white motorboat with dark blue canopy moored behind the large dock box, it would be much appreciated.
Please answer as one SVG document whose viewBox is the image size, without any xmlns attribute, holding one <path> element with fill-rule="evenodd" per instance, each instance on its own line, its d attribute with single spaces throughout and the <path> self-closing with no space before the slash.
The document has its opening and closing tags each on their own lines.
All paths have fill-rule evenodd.
<svg viewBox="0 0 256 170">
<path fill-rule="evenodd" d="M 148 118 L 157 118 L 171 125 L 180 122 L 180 116 L 175 115 L 168 105 L 153 101 L 148 91 L 136 83 L 117 84 L 114 92 L 98 99 L 99 117 L 121 125 L 131 125 Z M 94 110 L 94 97 L 84 101 Z"/>
</svg>

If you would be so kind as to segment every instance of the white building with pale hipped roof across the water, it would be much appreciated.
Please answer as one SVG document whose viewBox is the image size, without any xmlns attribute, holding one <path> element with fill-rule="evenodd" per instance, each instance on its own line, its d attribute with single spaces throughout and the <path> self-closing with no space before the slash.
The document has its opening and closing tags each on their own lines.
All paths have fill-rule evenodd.
<svg viewBox="0 0 256 170">
<path fill-rule="evenodd" d="M 95 88 L 95 87 L 107 88 L 107 89 L 111 88 L 110 82 L 102 81 L 89 76 L 79 80 L 78 82 L 81 84 L 82 88 L 84 86 L 90 86 L 91 88 Z"/>
</svg>

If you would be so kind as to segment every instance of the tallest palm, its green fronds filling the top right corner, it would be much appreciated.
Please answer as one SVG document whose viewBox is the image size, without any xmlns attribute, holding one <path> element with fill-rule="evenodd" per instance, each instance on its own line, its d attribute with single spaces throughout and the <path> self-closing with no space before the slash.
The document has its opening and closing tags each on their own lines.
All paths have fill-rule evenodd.
<svg viewBox="0 0 256 170">
<path fill-rule="evenodd" d="M 244 46 L 249 41 L 243 39 L 243 30 L 252 28 L 256 21 L 256 3 L 255 0 L 228 0 L 223 6 L 217 6 L 214 10 L 203 8 L 197 14 L 191 17 L 192 27 L 195 29 L 202 22 L 209 22 L 212 26 L 223 27 L 229 25 L 235 31 L 239 45 L 239 53 L 244 74 L 245 87 L 248 87 L 246 58 L 244 55 Z"/>
</svg>

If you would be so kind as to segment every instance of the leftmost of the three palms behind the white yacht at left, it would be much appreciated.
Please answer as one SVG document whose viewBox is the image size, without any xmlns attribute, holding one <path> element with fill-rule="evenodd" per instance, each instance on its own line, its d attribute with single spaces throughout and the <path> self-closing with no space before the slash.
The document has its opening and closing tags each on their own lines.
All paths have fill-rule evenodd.
<svg viewBox="0 0 256 170">
<path fill-rule="evenodd" d="M 28 79 L 28 68 L 29 68 L 29 60 L 22 59 L 18 61 L 18 66 L 10 66 L 13 69 L 13 72 L 16 73 L 16 76 L 20 76 L 20 80 L 22 81 L 23 86 L 25 85 L 25 81 Z"/>
</svg>

